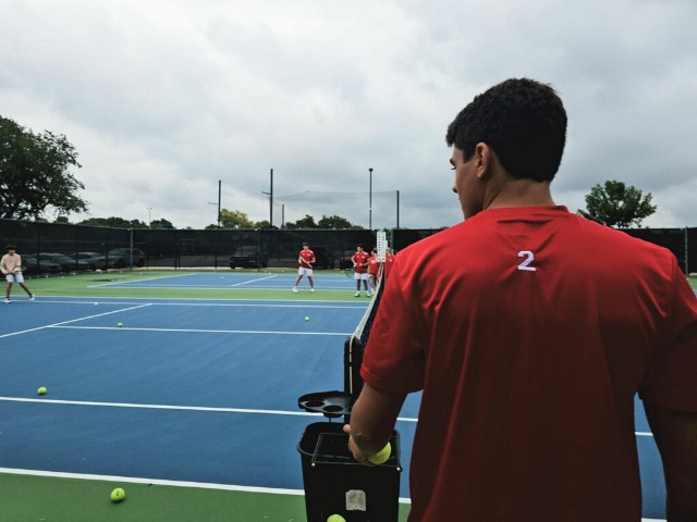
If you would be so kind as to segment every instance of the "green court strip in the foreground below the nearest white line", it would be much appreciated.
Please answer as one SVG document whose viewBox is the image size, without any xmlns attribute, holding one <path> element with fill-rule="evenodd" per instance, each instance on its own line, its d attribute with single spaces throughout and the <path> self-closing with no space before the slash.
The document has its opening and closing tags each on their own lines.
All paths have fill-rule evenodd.
<svg viewBox="0 0 697 522">
<path fill-rule="evenodd" d="M 125 490 L 114 504 L 110 494 Z M 400 522 L 407 505 L 400 505 Z M 0 520 L 8 522 L 301 522 L 302 495 L 0 473 Z"/>
</svg>

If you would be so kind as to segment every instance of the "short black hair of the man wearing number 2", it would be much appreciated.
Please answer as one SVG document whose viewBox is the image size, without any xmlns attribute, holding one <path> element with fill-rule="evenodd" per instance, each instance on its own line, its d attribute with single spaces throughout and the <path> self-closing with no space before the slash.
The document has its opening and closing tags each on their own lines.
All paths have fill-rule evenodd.
<svg viewBox="0 0 697 522">
<path fill-rule="evenodd" d="M 448 126 L 445 142 L 469 160 L 478 142 L 497 153 L 516 178 L 551 182 L 566 142 L 566 111 L 551 86 L 511 78 L 490 87 Z"/>
</svg>

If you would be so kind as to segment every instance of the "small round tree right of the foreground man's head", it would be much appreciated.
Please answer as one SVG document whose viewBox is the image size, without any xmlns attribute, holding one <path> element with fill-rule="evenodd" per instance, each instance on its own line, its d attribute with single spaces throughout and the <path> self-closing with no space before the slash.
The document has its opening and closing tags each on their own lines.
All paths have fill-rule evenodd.
<svg viewBox="0 0 697 522">
<path fill-rule="evenodd" d="M 641 221 L 656 212 L 651 199 L 650 192 L 644 196 L 632 185 L 610 179 L 603 186 L 596 185 L 590 189 L 586 195 L 587 210 L 578 210 L 578 213 L 607 226 L 629 228 L 640 226 Z"/>
</svg>

